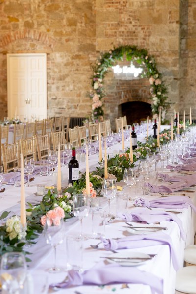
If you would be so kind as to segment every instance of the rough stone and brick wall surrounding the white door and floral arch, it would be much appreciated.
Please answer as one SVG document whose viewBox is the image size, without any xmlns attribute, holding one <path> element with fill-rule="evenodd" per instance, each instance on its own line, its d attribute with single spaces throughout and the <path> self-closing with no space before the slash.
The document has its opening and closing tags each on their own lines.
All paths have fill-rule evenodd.
<svg viewBox="0 0 196 294">
<path fill-rule="evenodd" d="M 90 64 L 121 44 L 155 56 L 176 110 L 187 98 L 194 105 L 195 22 L 194 0 L 0 0 L 0 118 L 7 111 L 6 53 L 47 52 L 48 115 L 83 117 L 91 112 Z"/>
</svg>

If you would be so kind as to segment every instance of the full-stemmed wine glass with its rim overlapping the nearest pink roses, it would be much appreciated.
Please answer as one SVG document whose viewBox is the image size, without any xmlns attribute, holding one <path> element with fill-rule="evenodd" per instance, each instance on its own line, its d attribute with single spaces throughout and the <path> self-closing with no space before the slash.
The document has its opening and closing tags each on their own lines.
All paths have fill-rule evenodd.
<svg viewBox="0 0 196 294">
<path fill-rule="evenodd" d="M 46 243 L 50 244 L 54 248 L 54 265 L 49 268 L 48 271 L 51 273 L 57 273 L 62 271 L 62 269 L 56 266 L 56 247 L 63 243 L 65 237 L 64 221 L 63 218 L 51 221 L 50 218 L 46 219 L 46 224 L 44 226 L 44 236 Z"/>
</svg>

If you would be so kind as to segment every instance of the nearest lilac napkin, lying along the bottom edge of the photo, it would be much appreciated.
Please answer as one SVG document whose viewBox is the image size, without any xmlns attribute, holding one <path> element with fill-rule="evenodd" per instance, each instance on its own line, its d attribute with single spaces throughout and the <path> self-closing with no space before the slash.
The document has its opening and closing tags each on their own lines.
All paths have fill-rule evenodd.
<svg viewBox="0 0 196 294">
<path fill-rule="evenodd" d="M 152 294 L 163 294 L 163 280 L 155 275 L 137 269 L 136 267 L 121 267 L 117 263 L 105 265 L 99 262 L 90 270 L 79 273 L 75 270 L 68 271 L 68 281 L 52 284 L 50 288 L 67 288 L 80 285 L 108 285 L 134 283 L 149 285 Z"/>
</svg>

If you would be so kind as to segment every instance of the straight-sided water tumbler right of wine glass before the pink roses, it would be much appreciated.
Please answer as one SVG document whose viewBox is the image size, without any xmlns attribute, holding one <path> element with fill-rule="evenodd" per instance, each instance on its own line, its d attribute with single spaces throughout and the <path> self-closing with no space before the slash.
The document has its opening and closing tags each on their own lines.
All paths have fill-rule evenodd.
<svg viewBox="0 0 196 294">
<path fill-rule="evenodd" d="M 73 270 L 82 271 L 83 268 L 83 238 L 67 236 L 67 263 Z"/>
</svg>

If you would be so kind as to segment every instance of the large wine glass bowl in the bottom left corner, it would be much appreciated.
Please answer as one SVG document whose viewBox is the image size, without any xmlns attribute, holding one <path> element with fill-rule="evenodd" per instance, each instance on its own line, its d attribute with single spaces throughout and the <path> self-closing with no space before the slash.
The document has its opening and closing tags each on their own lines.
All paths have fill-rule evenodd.
<svg viewBox="0 0 196 294">
<path fill-rule="evenodd" d="M 23 289 L 27 274 L 25 256 L 20 252 L 8 252 L 1 256 L 0 280 L 2 289 L 9 294 Z"/>
</svg>

